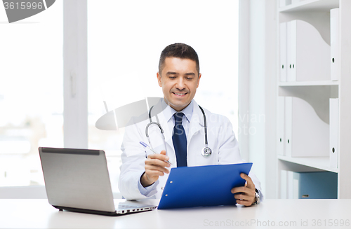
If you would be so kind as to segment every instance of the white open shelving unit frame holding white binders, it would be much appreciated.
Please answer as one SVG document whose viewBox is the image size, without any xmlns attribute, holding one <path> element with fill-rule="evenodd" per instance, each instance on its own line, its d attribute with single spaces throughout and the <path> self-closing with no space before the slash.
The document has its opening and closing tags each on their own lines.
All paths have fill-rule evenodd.
<svg viewBox="0 0 351 229">
<path fill-rule="evenodd" d="M 282 170 L 293 172 L 338 173 L 338 198 L 351 198 L 351 1 L 304 0 L 277 10 L 279 24 L 291 20 L 304 20 L 313 25 L 330 46 L 330 10 L 339 8 L 340 78 L 338 81 L 280 81 L 280 58 L 277 58 L 277 99 L 299 97 L 307 101 L 319 118 L 329 124 L 329 98 L 338 98 L 338 167 L 331 167 L 329 157 L 291 157 L 277 155 L 277 193 L 280 198 Z M 279 41 L 279 39 L 278 39 Z M 277 44 L 277 53 L 279 53 Z M 279 104 L 279 102 L 277 102 Z M 277 105 L 278 106 L 278 105 Z M 277 112 L 278 109 L 277 109 Z M 278 115 L 279 116 L 279 115 Z M 277 133 L 278 130 L 277 121 Z M 284 124 L 285 125 L 285 124 Z M 278 150 L 277 150 L 278 151 Z"/>
</svg>

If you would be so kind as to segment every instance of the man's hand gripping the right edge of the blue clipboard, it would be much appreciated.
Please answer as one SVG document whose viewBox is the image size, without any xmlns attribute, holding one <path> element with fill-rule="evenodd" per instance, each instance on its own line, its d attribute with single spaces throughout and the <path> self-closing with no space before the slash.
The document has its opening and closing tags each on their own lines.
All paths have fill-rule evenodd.
<svg viewBox="0 0 351 229">
<path fill-rule="evenodd" d="M 255 202 L 256 188 L 253 184 L 250 176 L 242 173 L 240 174 L 241 178 L 246 181 L 244 187 L 232 188 L 232 193 L 234 194 L 235 199 L 237 199 L 237 204 L 243 204 L 245 206 L 251 206 Z"/>
</svg>

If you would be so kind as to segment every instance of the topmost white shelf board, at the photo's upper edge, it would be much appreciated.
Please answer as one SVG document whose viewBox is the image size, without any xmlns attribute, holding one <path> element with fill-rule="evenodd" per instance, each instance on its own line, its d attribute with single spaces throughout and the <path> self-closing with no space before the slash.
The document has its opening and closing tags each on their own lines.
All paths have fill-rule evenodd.
<svg viewBox="0 0 351 229">
<path fill-rule="evenodd" d="M 339 7 L 339 0 L 305 0 L 279 8 L 279 12 L 329 11 Z"/>
</svg>

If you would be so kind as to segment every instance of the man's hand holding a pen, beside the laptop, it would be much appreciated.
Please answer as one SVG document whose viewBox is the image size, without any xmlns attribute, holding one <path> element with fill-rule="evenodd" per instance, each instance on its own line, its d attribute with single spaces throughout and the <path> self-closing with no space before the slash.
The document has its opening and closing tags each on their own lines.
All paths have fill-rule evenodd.
<svg viewBox="0 0 351 229">
<path fill-rule="evenodd" d="M 160 154 L 150 154 L 145 160 L 145 173 L 140 178 L 140 183 L 143 187 L 151 186 L 152 183 L 159 179 L 159 176 L 168 174 L 169 170 L 166 167 L 170 167 L 165 160 L 169 160 L 166 155 L 166 151 L 161 151 Z"/>
</svg>

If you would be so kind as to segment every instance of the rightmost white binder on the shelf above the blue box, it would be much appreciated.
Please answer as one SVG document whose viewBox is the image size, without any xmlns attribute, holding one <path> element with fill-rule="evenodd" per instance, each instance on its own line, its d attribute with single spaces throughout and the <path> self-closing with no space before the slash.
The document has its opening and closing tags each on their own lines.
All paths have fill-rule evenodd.
<svg viewBox="0 0 351 229">
<path fill-rule="evenodd" d="M 338 167 L 338 100 L 329 99 L 330 167 Z"/>
</svg>

